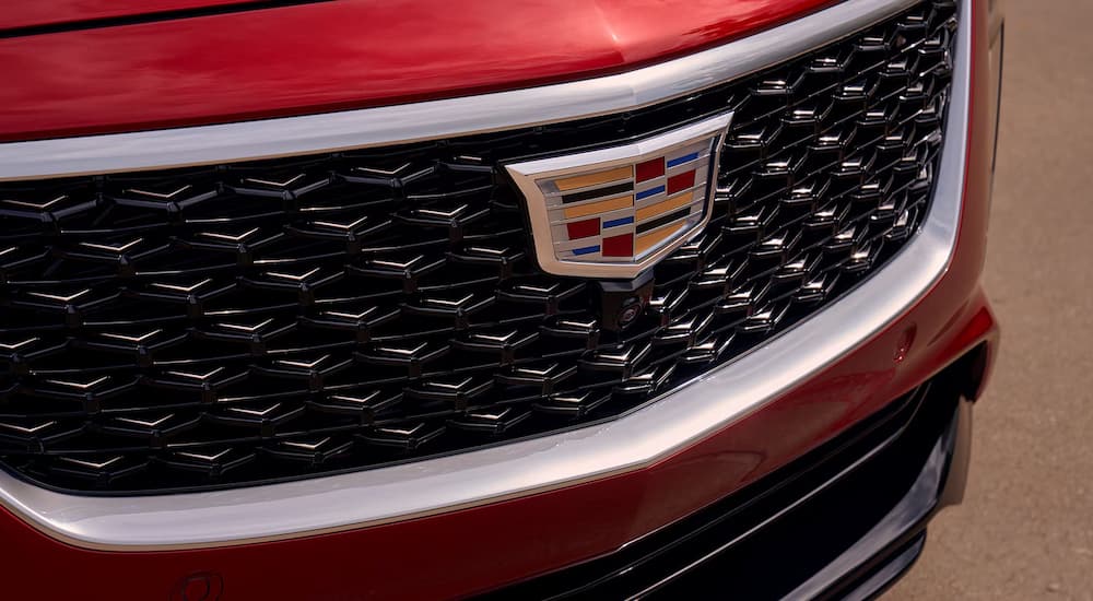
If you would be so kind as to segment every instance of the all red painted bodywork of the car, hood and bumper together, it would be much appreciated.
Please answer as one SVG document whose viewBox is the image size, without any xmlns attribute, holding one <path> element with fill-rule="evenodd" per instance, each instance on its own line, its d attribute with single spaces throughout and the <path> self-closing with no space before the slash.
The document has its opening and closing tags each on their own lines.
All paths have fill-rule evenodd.
<svg viewBox="0 0 1093 601">
<path fill-rule="evenodd" d="M 0 14 L 0 140 L 321 114 L 583 80 L 686 56 L 833 3 L 24 2 Z M 974 2 L 973 14 L 963 211 L 943 276 L 883 330 L 761 411 L 649 467 L 287 540 L 102 551 L 58 540 L 5 509 L 3 596 L 473 594 L 602 556 L 673 523 L 835 437 L 977 347 L 985 349 L 984 375 L 976 379 L 982 388 L 998 341 L 980 284 L 997 97 L 986 0 Z M 741 456 L 760 459 L 733 460 Z"/>
</svg>

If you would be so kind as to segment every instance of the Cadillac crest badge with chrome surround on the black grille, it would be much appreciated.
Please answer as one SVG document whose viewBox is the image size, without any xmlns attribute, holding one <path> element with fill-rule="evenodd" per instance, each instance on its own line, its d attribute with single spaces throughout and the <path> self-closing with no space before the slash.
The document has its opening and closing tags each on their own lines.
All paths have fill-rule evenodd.
<svg viewBox="0 0 1093 601">
<path fill-rule="evenodd" d="M 710 217 L 731 121 L 724 113 L 631 144 L 508 165 L 542 270 L 633 279 L 698 234 Z M 658 162 L 659 170 L 643 177 L 638 167 Z M 569 235 L 579 225 L 596 233 Z"/>
</svg>

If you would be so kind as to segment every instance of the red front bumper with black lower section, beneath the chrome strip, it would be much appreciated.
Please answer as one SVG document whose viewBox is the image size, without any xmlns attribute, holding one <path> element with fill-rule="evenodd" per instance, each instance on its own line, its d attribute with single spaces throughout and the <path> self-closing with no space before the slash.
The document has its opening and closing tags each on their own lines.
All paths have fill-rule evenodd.
<svg viewBox="0 0 1093 601">
<path fill-rule="evenodd" d="M 816 375 L 814 384 L 666 461 L 536 495 L 338 533 L 178 551 L 81 549 L 4 511 L 5 565 L 22 575 L 9 580 L 8 592 L 148 599 L 179 594 L 196 581 L 198 590 L 233 592 L 224 599 L 422 599 L 485 591 L 528 598 L 542 597 L 548 586 L 580 593 L 591 580 L 609 587 L 603 590 L 611 598 L 660 587 L 666 596 L 720 587 L 779 597 L 791 592 L 790 585 L 811 593 L 803 597 L 868 597 L 910 565 L 929 517 L 962 496 L 967 399 L 987 377 L 997 329 L 978 286 L 957 305 L 948 317 L 918 308 L 908 315 L 919 327 L 942 328 L 936 352 L 909 352 L 894 364 L 891 342 L 900 331 L 881 335 Z M 916 417 L 888 421 L 902 435 L 875 428 L 889 436 L 847 441 L 860 431 L 851 424 L 890 415 L 885 408 L 897 404 L 893 399 L 922 382 L 933 385 L 933 392 L 921 399 Z M 816 432 L 833 417 L 845 424 L 838 435 Z M 773 435 L 781 440 L 772 443 Z M 804 439 L 816 444 L 797 458 Z M 837 453 L 833 445 L 854 448 Z M 815 459 L 832 455 L 854 464 Z M 767 491 L 771 482 L 780 484 L 780 495 L 749 515 L 741 499 Z M 71 511 L 78 515 L 80 507 Z M 725 516 L 732 518 L 730 526 L 706 534 L 703 527 Z M 682 543 L 679 553 L 661 557 L 649 551 L 670 543 Z M 630 570 L 628 579 L 607 578 L 635 553 L 659 561 Z M 724 562 L 737 562 L 738 569 L 724 569 Z M 57 565 L 66 566 L 66 578 L 50 577 Z M 584 578 L 576 587 L 575 570 Z M 207 580 L 211 588 L 202 588 Z M 498 589 L 514 585 L 521 588 Z"/>
</svg>

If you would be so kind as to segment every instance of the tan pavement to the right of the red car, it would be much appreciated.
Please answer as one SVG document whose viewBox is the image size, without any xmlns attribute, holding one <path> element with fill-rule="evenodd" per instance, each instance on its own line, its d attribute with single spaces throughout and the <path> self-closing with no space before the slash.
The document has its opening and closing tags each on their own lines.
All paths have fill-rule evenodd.
<svg viewBox="0 0 1093 601">
<path fill-rule="evenodd" d="M 1093 600 L 1093 2 L 1006 14 L 985 274 L 1001 353 L 964 504 L 885 601 Z"/>
</svg>

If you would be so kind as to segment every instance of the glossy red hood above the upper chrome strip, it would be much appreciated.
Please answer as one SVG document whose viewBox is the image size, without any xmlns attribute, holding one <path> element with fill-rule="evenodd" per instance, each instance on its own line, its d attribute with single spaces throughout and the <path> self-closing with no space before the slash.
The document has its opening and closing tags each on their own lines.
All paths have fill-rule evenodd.
<svg viewBox="0 0 1093 601">
<path fill-rule="evenodd" d="M 831 0 L 23 0 L 0 11 L 0 140 L 132 131 L 573 80 Z"/>
</svg>

